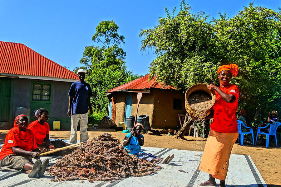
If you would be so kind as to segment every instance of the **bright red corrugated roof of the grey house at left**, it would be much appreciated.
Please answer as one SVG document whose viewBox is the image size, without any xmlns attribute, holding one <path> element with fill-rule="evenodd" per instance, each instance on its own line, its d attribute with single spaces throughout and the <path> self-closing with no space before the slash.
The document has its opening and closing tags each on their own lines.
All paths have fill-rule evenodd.
<svg viewBox="0 0 281 187">
<path fill-rule="evenodd" d="M 70 70 L 24 44 L 0 41 L 0 73 L 78 79 Z"/>
</svg>

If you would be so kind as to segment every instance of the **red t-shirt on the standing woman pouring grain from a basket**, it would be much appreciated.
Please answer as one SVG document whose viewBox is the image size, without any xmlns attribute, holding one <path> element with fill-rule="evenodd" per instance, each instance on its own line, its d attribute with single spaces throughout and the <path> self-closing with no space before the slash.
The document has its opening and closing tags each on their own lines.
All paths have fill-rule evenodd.
<svg viewBox="0 0 281 187">
<path fill-rule="evenodd" d="M 236 111 L 238 109 L 239 90 L 234 84 L 228 84 L 225 87 L 219 87 L 226 94 L 233 94 L 236 100 L 227 103 L 216 92 L 216 102 L 214 104 L 214 120 L 210 128 L 220 133 L 237 133 Z"/>
</svg>

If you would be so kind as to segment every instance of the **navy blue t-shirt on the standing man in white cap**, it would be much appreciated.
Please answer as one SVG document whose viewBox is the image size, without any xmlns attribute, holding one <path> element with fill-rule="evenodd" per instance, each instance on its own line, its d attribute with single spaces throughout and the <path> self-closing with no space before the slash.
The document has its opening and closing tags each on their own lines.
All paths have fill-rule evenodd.
<svg viewBox="0 0 281 187">
<path fill-rule="evenodd" d="M 87 82 L 73 82 L 68 92 L 73 97 L 71 115 L 86 114 L 89 110 L 88 98 L 92 97 L 91 86 Z"/>
</svg>

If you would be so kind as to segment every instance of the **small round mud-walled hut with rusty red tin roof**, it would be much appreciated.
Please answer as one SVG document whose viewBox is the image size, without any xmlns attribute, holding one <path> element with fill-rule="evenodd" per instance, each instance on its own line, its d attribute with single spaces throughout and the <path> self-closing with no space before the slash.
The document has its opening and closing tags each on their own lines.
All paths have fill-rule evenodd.
<svg viewBox="0 0 281 187">
<path fill-rule="evenodd" d="M 178 129 L 178 114 L 186 114 L 185 94 L 173 86 L 149 80 L 149 74 L 107 91 L 108 115 L 116 124 L 136 115 L 137 94 L 142 92 L 138 115 L 148 115 L 154 129 Z"/>
</svg>

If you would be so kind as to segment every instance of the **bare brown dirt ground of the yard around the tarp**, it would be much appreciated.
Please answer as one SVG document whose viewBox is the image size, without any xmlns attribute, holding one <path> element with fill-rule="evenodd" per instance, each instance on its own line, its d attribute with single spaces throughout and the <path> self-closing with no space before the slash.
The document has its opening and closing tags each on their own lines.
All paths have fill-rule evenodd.
<svg viewBox="0 0 281 187">
<path fill-rule="evenodd" d="M 89 138 L 94 138 L 102 133 L 111 133 L 112 136 L 121 141 L 126 134 L 116 131 L 89 131 Z M 0 142 L 4 142 L 5 136 L 8 130 L 0 130 Z M 78 132 L 78 139 L 79 139 Z M 162 134 L 160 136 L 154 136 L 149 134 L 143 134 L 145 137 L 144 147 L 160 147 L 190 151 L 203 151 L 206 143 L 206 138 L 193 138 L 191 136 L 185 136 L 187 140 L 176 139 L 174 136 L 166 136 Z M 69 139 L 70 131 L 50 131 L 50 138 Z M 259 140 L 258 140 L 259 141 Z M 259 142 L 258 142 L 259 143 Z M 269 148 L 265 146 L 241 146 L 240 144 L 234 144 L 232 154 L 250 155 L 253 159 L 260 174 L 264 178 L 264 181 L 269 187 L 281 187 L 281 145 L 276 147 L 274 142 L 271 142 Z"/>
</svg>

